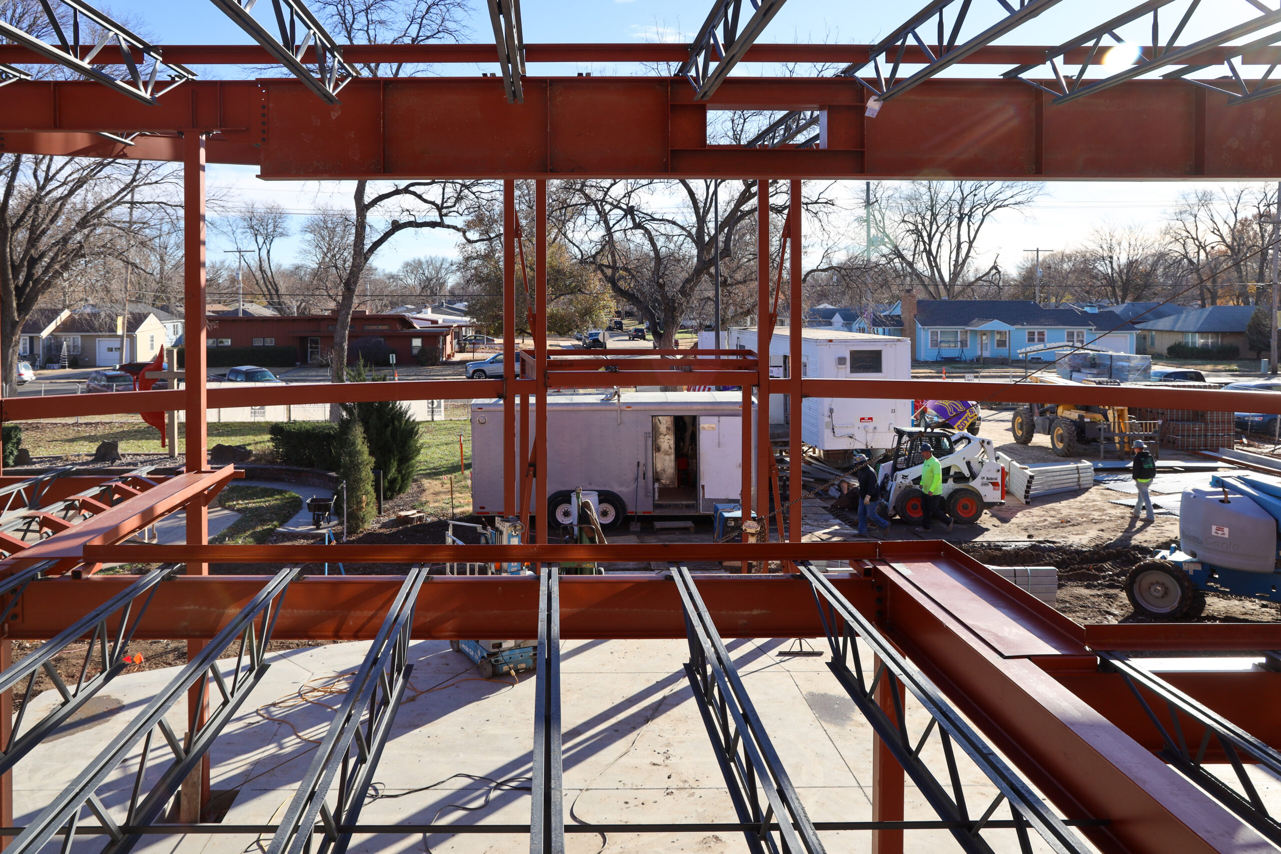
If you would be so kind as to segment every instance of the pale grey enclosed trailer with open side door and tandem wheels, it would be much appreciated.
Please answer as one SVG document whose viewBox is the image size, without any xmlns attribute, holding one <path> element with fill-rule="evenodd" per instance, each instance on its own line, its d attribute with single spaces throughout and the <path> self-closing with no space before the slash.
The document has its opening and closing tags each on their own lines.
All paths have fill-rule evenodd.
<svg viewBox="0 0 1281 854">
<path fill-rule="evenodd" d="M 479 516 L 502 512 L 505 403 L 471 402 L 471 510 Z M 519 402 L 512 403 L 519 443 Z M 578 488 L 598 493 L 605 528 L 633 513 L 688 516 L 711 513 L 715 503 L 737 503 L 743 484 L 742 408 L 740 392 L 550 394 L 551 526 L 574 522 L 570 495 Z M 752 460 L 755 484 L 755 453 Z"/>
</svg>

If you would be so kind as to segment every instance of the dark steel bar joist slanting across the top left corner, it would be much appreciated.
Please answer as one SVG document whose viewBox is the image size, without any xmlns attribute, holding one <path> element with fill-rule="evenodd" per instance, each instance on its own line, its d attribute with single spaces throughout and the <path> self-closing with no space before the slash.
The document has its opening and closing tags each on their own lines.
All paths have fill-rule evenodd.
<svg viewBox="0 0 1281 854">
<path fill-rule="evenodd" d="M 59 6 L 69 10 L 70 17 Z M 188 68 L 165 61 L 160 47 L 135 36 L 82 0 L 42 0 L 32 10 L 36 20 L 42 22 L 42 28 L 53 33 L 56 45 L 6 20 L 0 20 L 0 36 L 143 104 L 156 104 L 156 99 L 174 86 L 196 77 Z M 114 50 L 101 52 L 111 42 L 119 49 L 119 56 Z M 141 63 L 135 54 L 141 54 Z M 113 77 L 102 70 L 102 65 L 124 65 L 126 76 Z M 160 79 L 161 70 L 167 72 L 168 79 Z"/>
</svg>

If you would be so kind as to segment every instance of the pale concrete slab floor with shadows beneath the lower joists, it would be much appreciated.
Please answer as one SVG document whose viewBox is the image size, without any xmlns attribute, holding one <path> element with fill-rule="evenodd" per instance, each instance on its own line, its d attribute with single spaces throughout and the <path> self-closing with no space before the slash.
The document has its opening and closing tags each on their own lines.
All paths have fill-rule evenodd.
<svg viewBox="0 0 1281 854">
<path fill-rule="evenodd" d="M 872 732 L 822 658 L 778 656 L 788 640 L 733 640 L 730 653 L 779 757 L 813 821 L 871 818 Z M 273 653 L 270 667 L 213 749 L 213 787 L 237 789 L 223 819 L 228 825 L 270 823 L 283 814 L 342 700 L 343 676 L 359 667 L 368 644 L 334 644 Z M 567 641 L 562 650 L 562 740 L 565 818 L 575 822 L 734 821 L 720 767 L 681 668 L 684 641 Z M 361 821 L 528 823 L 533 740 L 534 677 L 482 680 L 471 662 L 445 641 L 411 647 L 414 689 L 396 718 L 375 773 L 373 798 Z M 232 661 L 224 661 L 232 667 Z M 127 673 L 14 772 L 14 814 L 26 825 L 72 782 L 178 668 Z M 47 709 L 53 693 L 32 700 Z M 910 729 L 926 717 L 908 700 Z M 184 730 L 184 707 L 168 716 Z M 118 821 L 137 772 L 141 749 L 99 789 Z M 167 755 L 168 754 L 168 755 Z M 944 773 L 936 739 L 924 755 Z M 145 787 L 172 754 L 154 739 Z M 961 782 L 971 810 L 995 794 L 963 757 Z M 1252 768 L 1261 791 L 1281 802 L 1281 784 Z M 1003 810 L 1004 814 L 1004 810 Z M 911 784 L 907 817 L 934 813 Z M 86 823 L 95 823 L 88 816 Z M 869 851 L 871 834 L 822 832 L 829 851 Z M 255 835 L 146 836 L 136 848 L 149 854 L 245 854 L 265 850 Z M 1013 831 L 991 834 L 998 851 L 1017 850 Z M 81 837 L 74 854 L 101 849 L 101 837 Z M 360 836 L 360 854 L 523 853 L 525 835 Z M 55 850 L 53 844 L 50 851 Z M 740 834 L 570 834 L 571 854 L 670 851 L 719 854 L 748 850 Z M 913 831 L 907 851 L 959 850 L 944 831 Z M 1036 840 L 1034 850 L 1049 850 Z"/>
</svg>

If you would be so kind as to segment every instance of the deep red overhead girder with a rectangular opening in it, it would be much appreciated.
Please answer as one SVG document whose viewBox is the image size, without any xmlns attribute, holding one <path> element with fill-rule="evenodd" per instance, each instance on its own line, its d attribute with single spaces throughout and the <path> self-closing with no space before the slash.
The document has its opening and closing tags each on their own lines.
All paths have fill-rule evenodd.
<svg viewBox="0 0 1281 854">
<path fill-rule="evenodd" d="M 1020 81 L 935 78 L 875 119 L 863 99 L 847 78 L 729 78 L 705 104 L 680 79 L 529 77 L 525 101 L 507 104 L 501 79 L 465 77 L 357 79 L 341 109 L 292 79 L 184 83 L 149 106 L 94 82 L 38 81 L 0 88 L 0 131 L 204 129 L 259 146 L 261 177 L 281 179 L 1281 175 L 1281 110 L 1234 108 L 1184 81 L 1049 105 Z M 707 145 L 708 109 L 819 108 L 824 149 Z"/>
</svg>

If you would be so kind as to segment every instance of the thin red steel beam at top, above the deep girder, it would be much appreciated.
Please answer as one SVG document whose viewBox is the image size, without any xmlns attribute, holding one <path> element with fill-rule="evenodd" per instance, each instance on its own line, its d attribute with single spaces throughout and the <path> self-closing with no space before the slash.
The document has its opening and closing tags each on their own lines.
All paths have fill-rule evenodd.
<svg viewBox="0 0 1281 854">
<path fill-rule="evenodd" d="M 86 56 L 92 45 L 81 47 Z M 967 65 L 1025 65 L 1044 61 L 1053 46 L 988 45 L 958 60 Z M 1173 50 L 1177 50 L 1175 47 Z M 1070 50 L 1066 64 L 1089 61 L 1102 65 L 1106 51 L 1088 47 Z M 1214 47 L 1189 60 L 1191 64 L 1221 63 L 1231 55 L 1230 47 Z M 183 65 L 278 65 L 260 45 L 164 45 L 164 56 L 170 63 Z M 465 63 L 488 65 L 494 63 L 493 45 L 343 45 L 342 58 L 348 63 Z M 526 63 L 683 63 L 689 58 L 688 45 L 679 44 L 528 44 Z M 752 45 L 740 61 L 746 63 L 866 63 L 871 58 L 870 45 Z M 100 60 L 102 58 L 99 58 Z M 102 64 L 110 65 L 111 56 Z M 133 60 L 143 61 L 142 51 L 133 50 Z M 315 63 L 315 49 L 309 47 L 302 56 L 307 64 Z M 903 52 L 903 63 L 921 65 L 929 61 L 925 51 L 910 45 Z M 1281 49 L 1263 47 L 1245 54 L 1246 65 L 1271 65 L 1281 61 Z M 51 65 L 53 59 L 36 54 L 22 45 L 0 45 L 0 63 L 19 65 Z"/>
</svg>

